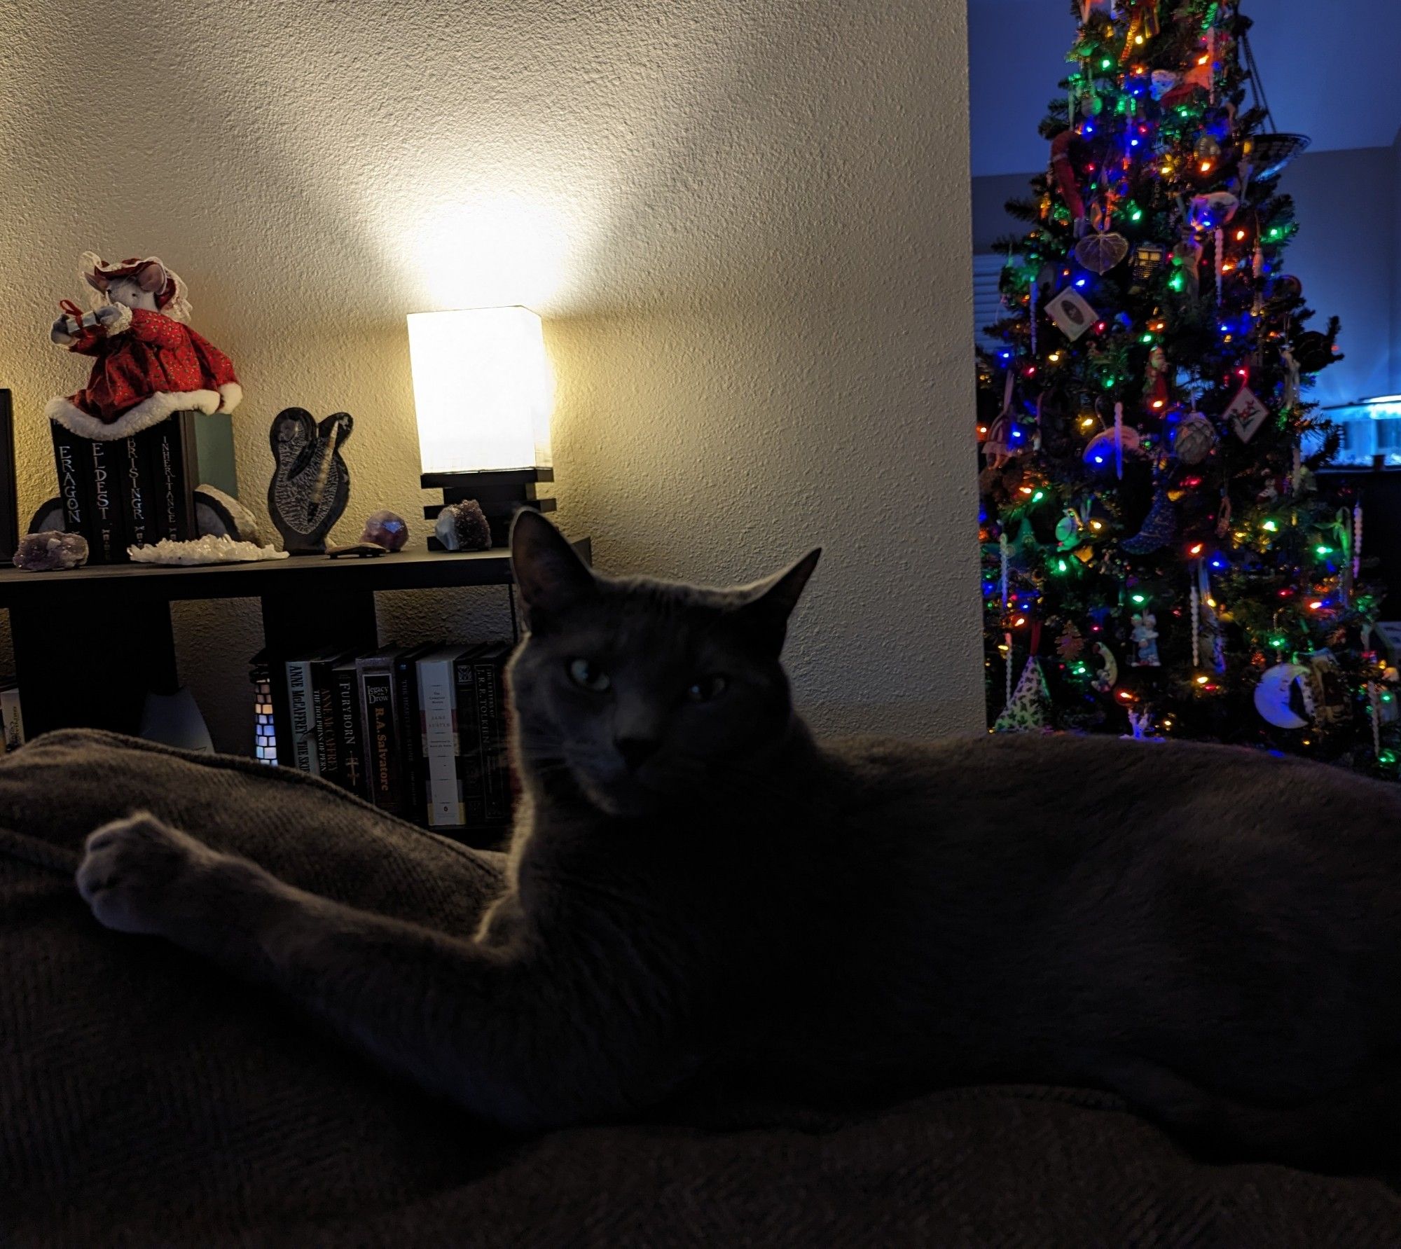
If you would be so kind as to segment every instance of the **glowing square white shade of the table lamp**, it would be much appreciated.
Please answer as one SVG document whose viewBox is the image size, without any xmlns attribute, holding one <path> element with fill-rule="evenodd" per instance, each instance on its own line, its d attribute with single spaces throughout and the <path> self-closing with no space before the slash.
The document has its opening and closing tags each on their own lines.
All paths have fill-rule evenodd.
<svg viewBox="0 0 1401 1249">
<path fill-rule="evenodd" d="M 530 308 L 409 314 L 425 473 L 548 468 L 553 378 Z"/>
</svg>

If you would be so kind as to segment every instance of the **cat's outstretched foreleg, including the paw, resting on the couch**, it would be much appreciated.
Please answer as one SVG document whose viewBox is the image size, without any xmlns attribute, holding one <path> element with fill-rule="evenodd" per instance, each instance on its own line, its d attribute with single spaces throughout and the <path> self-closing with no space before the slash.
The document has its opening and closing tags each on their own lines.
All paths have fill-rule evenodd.
<svg viewBox="0 0 1401 1249">
<path fill-rule="evenodd" d="M 106 927 L 272 984 L 381 1066 L 516 1129 L 630 1109 L 672 1075 L 587 961 L 359 912 L 150 815 L 92 833 L 77 885 Z"/>
</svg>

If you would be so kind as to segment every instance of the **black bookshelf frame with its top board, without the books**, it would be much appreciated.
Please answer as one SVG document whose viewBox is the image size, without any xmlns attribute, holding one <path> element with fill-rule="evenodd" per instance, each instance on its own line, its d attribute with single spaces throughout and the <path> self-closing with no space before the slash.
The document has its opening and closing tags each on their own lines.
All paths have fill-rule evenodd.
<svg viewBox="0 0 1401 1249">
<path fill-rule="evenodd" d="M 586 561 L 591 559 L 588 538 L 573 545 Z M 286 654 L 375 647 L 375 594 L 474 587 L 504 587 L 514 627 L 504 547 L 446 553 L 410 546 L 374 559 L 293 556 L 189 568 L 0 568 L 0 608 L 10 612 L 27 737 L 71 727 L 132 734 L 146 692 L 177 683 L 172 602 L 256 598 L 263 646 Z"/>
</svg>

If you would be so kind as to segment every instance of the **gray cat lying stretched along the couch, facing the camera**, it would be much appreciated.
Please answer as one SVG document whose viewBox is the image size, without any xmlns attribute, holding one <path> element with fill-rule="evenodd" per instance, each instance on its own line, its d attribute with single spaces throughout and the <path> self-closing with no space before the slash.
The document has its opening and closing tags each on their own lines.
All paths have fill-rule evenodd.
<svg viewBox="0 0 1401 1249">
<path fill-rule="evenodd" d="M 727 1071 L 1093 1085 L 1279 1158 L 1390 1137 L 1397 791 L 1209 746 L 815 742 L 779 653 L 817 557 L 743 589 L 607 578 L 520 517 L 524 795 L 475 940 L 149 815 L 92 833 L 78 889 L 518 1130 Z"/>
</svg>

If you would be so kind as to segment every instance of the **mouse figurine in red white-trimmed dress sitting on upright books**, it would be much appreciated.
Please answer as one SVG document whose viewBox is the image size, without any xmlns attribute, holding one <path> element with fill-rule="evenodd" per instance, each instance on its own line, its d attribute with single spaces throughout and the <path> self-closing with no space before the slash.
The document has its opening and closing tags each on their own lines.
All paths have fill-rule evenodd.
<svg viewBox="0 0 1401 1249">
<path fill-rule="evenodd" d="M 45 414 L 84 438 L 126 438 L 175 412 L 233 412 L 242 399 L 234 365 L 185 325 L 189 301 L 179 274 L 157 256 L 109 263 L 81 258 L 91 312 L 63 300 L 50 339 L 92 356 L 88 384 L 49 400 Z"/>
</svg>

